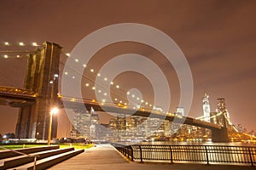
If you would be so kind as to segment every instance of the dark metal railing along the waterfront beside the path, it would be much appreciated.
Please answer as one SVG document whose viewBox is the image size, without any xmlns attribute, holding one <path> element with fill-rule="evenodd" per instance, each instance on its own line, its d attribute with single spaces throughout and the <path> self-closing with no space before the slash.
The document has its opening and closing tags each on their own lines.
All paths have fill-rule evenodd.
<svg viewBox="0 0 256 170">
<path fill-rule="evenodd" d="M 113 144 L 131 161 L 256 165 L 256 147 L 229 145 Z"/>
</svg>

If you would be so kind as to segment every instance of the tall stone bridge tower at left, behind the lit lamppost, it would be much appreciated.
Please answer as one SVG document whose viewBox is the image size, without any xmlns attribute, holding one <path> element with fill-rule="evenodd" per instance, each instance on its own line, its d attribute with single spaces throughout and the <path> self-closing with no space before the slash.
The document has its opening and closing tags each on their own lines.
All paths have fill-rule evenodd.
<svg viewBox="0 0 256 170">
<path fill-rule="evenodd" d="M 38 97 L 34 105 L 20 108 L 16 137 L 19 139 L 47 139 L 49 132 L 49 111 L 55 105 L 58 93 L 58 75 L 61 46 L 44 42 L 35 54 L 27 57 L 24 88 L 35 92 Z M 57 134 L 57 119 L 53 116 L 52 138 Z"/>
</svg>

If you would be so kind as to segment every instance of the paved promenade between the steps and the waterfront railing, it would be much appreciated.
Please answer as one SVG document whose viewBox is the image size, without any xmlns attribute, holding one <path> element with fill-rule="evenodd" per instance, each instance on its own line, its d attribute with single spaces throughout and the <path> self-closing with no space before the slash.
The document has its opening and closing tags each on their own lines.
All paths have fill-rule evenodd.
<svg viewBox="0 0 256 170">
<path fill-rule="evenodd" d="M 98 144 L 85 150 L 79 156 L 63 161 L 51 170 L 256 170 L 256 167 L 201 165 L 201 164 L 164 164 L 139 163 L 126 161 L 110 144 Z"/>
</svg>

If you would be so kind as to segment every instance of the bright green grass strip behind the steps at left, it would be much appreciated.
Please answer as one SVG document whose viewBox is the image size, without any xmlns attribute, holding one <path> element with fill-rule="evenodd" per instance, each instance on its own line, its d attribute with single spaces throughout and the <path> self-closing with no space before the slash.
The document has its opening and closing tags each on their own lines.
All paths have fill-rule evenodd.
<svg viewBox="0 0 256 170">
<path fill-rule="evenodd" d="M 20 149 L 20 148 L 31 148 L 31 147 L 40 147 L 46 146 L 47 144 L 0 144 L 0 150 L 4 150 L 1 146 L 8 149 Z M 93 147 L 94 144 L 56 144 L 60 145 L 60 148 L 73 147 L 74 149 L 88 149 Z"/>
</svg>

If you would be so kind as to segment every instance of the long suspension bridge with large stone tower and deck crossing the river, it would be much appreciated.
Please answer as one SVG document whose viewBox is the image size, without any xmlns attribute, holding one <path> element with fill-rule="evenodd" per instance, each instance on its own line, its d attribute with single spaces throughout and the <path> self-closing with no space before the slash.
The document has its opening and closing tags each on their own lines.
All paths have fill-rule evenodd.
<svg viewBox="0 0 256 170">
<path fill-rule="evenodd" d="M 0 87 L 0 104 L 20 108 L 16 135 L 20 139 L 47 139 L 49 133 L 49 112 L 55 106 L 71 110 L 84 108 L 86 111 L 103 111 L 125 116 L 154 117 L 169 122 L 181 122 L 212 131 L 213 142 L 228 142 L 225 125 L 205 122 L 199 119 L 179 116 L 168 111 L 155 111 L 153 105 L 139 108 L 128 104 L 113 104 L 96 99 L 79 99 L 59 94 L 61 46 L 54 42 L 44 42 L 43 46 L 26 54 L 27 69 L 24 88 Z M 93 71 L 93 70 L 91 70 Z M 111 82 L 113 83 L 113 82 Z M 117 87 L 119 88 L 119 87 Z M 95 90 L 95 89 L 94 89 Z M 57 119 L 53 117 L 51 137 L 57 134 Z"/>
</svg>

